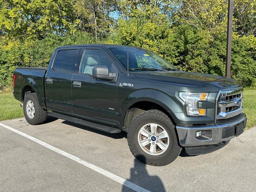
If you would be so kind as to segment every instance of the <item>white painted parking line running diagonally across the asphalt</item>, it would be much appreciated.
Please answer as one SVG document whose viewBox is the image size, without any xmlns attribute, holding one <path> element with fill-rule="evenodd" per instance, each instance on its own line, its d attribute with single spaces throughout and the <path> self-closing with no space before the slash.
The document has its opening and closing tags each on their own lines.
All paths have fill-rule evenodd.
<svg viewBox="0 0 256 192">
<path fill-rule="evenodd" d="M 64 151 L 62 151 L 62 150 L 60 150 L 60 149 L 58 149 L 58 148 L 56 148 L 54 146 L 51 146 L 51 145 L 49 145 L 49 144 L 47 144 L 47 143 L 45 143 L 45 142 L 43 142 L 43 141 L 41 141 L 39 139 L 36 139 L 36 138 L 34 138 L 32 136 L 29 136 L 29 135 L 25 134 L 23 132 L 20 132 L 20 131 L 18 131 L 16 129 L 12 128 L 12 127 L 9 127 L 9 126 L 7 126 L 5 124 L 2 124 L 2 123 L 0 123 L 0 126 L 6 128 L 8 130 L 11 130 L 11 131 L 13 131 L 15 133 L 18 133 L 18 134 L 20 134 L 20 135 L 22 135 L 22 136 L 24 136 L 24 137 L 26 137 L 26 138 L 28 138 L 28 139 L 38 143 L 38 144 L 40 144 L 40 145 L 42 145 L 42 146 L 44 146 L 44 147 L 46 147 L 46 148 L 48 148 L 48 149 L 50 149 L 52 151 L 55 151 L 55 152 L 65 156 L 67 158 L 70 158 L 70 159 L 72 159 L 72 160 L 74 160 L 74 161 L 76 161 L 76 162 L 78 162 L 78 163 L 80 163 L 80 164 L 82 164 L 82 165 L 84 165 L 84 166 L 86 166 L 86 167 L 88 167 L 88 168 L 90 168 L 90 169 L 92 169 L 92 170 L 94 170 L 94 171 L 96 171 L 96 172 L 98 172 L 98 173 L 100 173 L 100 174 L 102 174 L 102 175 L 104 175 L 104 176 L 106 176 L 106 177 L 108 177 L 108 178 L 110 178 L 110 179 L 112 179 L 112 180 L 114 180 L 114 181 L 116 181 L 116 182 L 118 182 L 118 183 L 128 187 L 128 188 L 133 189 L 134 191 L 137 191 L 137 192 L 150 192 L 149 190 L 146 190 L 146 189 L 144 189 L 144 188 L 142 188 L 142 187 L 140 187 L 140 186 L 138 186 L 138 185 L 136 185 L 136 184 L 134 184 L 134 183 L 132 183 L 130 181 L 127 181 L 127 180 L 125 180 L 125 179 L 123 179 L 123 178 L 121 178 L 121 177 L 119 177 L 119 176 L 117 176 L 115 174 L 112 174 L 112 173 L 110 173 L 110 172 L 108 172 L 108 171 L 106 171 L 106 170 L 104 170 L 104 169 L 102 169 L 102 168 L 100 168 L 98 166 L 95 166 L 95 165 L 93 165 L 91 163 L 88 163 L 88 162 L 86 162 L 86 161 L 84 161 L 84 160 L 82 160 L 82 159 L 80 159 L 80 158 L 78 158 L 78 157 L 76 157 L 76 156 L 74 156 L 72 154 L 64 152 Z"/>
</svg>

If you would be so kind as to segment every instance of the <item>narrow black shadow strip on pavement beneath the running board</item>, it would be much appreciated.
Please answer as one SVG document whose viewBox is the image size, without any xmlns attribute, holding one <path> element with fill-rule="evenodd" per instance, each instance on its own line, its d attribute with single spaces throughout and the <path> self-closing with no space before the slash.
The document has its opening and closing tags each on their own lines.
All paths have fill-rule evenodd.
<svg viewBox="0 0 256 192">
<path fill-rule="evenodd" d="M 124 132 L 124 131 L 121 131 L 120 133 L 111 134 L 111 133 L 107 133 L 107 132 L 97 130 L 97 129 L 94 129 L 94 128 L 86 127 L 86 126 L 83 126 L 83 125 L 80 125 L 80 124 L 65 121 L 65 120 L 62 121 L 61 123 L 69 125 L 69 126 L 73 126 L 73 127 L 76 127 L 76 128 L 80 128 L 80 129 L 83 129 L 83 130 L 88 130 L 90 132 L 101 134 L 101 135 L 104 135 L 104 136 L 107 136 L 107 137 L 110 137 L 110 138 L 113 138 L 113 139 L 127 138 L 127 133 Z"/>
</svg>

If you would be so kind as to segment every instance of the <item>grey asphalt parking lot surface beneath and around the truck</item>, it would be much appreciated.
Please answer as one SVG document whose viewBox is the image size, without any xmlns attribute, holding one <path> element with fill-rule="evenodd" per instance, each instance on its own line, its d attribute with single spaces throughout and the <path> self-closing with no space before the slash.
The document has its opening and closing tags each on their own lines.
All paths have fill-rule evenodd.
<svg viewBox="0 0 256 192">
<path fill-rule="evenodd" d="M 154 167 L 135 160 L 124 132 L 108 134 L 50 117 L 37 126 L 24 118 L 1 123 L 24 134 L 0 126 L 1 192 L 134 191 L 129 184 L 152 192 L 256 191 L 256 128 L 211 154 L 182 153 L 172 164 Z M 120 178 L 126 183 L 117 182 Z"/>
</svg>

